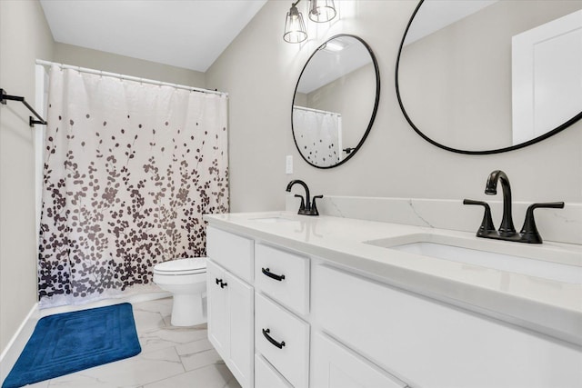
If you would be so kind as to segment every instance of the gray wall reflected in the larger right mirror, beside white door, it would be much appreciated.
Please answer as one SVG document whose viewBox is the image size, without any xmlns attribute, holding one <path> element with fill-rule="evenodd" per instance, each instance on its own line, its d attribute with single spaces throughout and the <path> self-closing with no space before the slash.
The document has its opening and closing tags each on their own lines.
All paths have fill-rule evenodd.
<svg viewBox="0 0 582 388">
<path fill-rule="evenodd" d="M 580 1 L 524 3 L 497 2 L 404 47 L 400 96 L 428 137 L 468 150 L 512 144 L 511 37 L 582 8 Z"/>
</svg>

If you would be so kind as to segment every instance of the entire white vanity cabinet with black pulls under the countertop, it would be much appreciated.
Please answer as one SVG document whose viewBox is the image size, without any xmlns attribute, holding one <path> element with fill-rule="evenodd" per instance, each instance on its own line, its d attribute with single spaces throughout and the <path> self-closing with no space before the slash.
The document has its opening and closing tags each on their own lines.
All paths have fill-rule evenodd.
<svg viewBox="0 0 582 388">
<path fill-rule="evenodd" d="M 265 235 L 208 228 L 208 335 L 245 388 L 582 387 L 577 344 Z"/>
</svg>

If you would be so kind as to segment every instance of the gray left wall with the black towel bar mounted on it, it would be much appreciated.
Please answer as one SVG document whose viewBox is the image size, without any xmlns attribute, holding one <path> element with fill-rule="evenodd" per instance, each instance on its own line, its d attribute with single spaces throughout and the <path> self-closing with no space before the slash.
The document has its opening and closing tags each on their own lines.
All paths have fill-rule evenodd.
<svg viewBox="0 0 582 388">
<path fill-rule="evenodd" d="M 53 38 L 37 1 L 0 1 L 0 86 L 35 104 Z M 23 104 L 0 105 L 0 351 L 36 303 L 35 148 Z M 3 373 L 4 374 L 4 373 Z"/>
</svg>

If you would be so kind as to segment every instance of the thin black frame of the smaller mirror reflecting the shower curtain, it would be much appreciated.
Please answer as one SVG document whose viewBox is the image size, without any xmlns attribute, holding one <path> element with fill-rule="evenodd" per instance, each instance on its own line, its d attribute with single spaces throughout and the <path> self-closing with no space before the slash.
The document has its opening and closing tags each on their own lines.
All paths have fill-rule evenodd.
<svg viewBox="0 0 582 388">
<path fill-rule="evenodd" d="M 366 128 L 366 133 L 362 136 L 362 138 L 360 139 L 359 143 L 356 145 L 356 148 L 353 148 L 352 151 L 349 154 L 346 154 L 346 157 L 344 159 L 342 159 L 341 162 L 334 164 L 334 165 L 327 165 L 327 166 L 321 166 L 321 165 L 316 165 L 313 164 L 311 162 L 309 162 L 306 159 L 306 156 L 301 152 L 301 150 L 299 149 L 299 145 L 297 144 L 297 140 L 295 137 L 295 129 L 293 126 L 293 106 L 295 104 L 295 97 L 297 94 L 297 86 L 299 86 L 299 82 L 301 81 L 301 75 L 303 75 L 303 73 L 306 70 L 307 65 L 309 65 L 309 61 L 311 61 L 311 58 L 313 58 L 314 55 L 317 54 L 317 52 L 319 52 L 319 50 L 321 48 L 323 48 L 327 42 L 329 42 L 332 39 L 336 39 L 337 37 L 341 37 L 341 36 L 349 36 L 352 38 L 357 39 L 362 45 L 364 45 L 364 47 L 366 47 L 367 52 L 369 53 L 370 57 L 372 58 L 372 63 L 374 64 L 374 72 L 376 75 L 376 98 L 374 100 L 374 110 L 372 111 L 372 115 L 370 117 L 370 122 L 367 124 L 367 128 Z M 341 164 L 345 164 L 349 159 L 352 158 L 352 156 L 354 156 L 354 154 L 356 154 L 356 152 L 361 148 L 362 144 L 364 144 L 364 142 L 366 141 L 366 137 L 367 135 L 370 133 L 370 129 L 372 129 L 372 124 L 374 124 L 374 120 L 376 119 L 376 113 L 378 110 L 378 104 L 380 102 L 380 70 L 378 68 L 378 63 L 376 61 L 376 55 L 374 55 L 374 52 L 372 51 L 372 48 L 370 47 L 370 45 L 368 45 L 366 43 L 366 41 L 364 41 L 364 39 L 360 38 L 359 36 L 356 35 L 350 35 L 350 34 L 338 34 L 338 35 L 334 35 L 330 38 L 328 38 L 326 40 L 326 42 L 324 42 L 323 44 L 319 45 L 316 50 L 313 52 L 313 54 L 309 55 L 309 58 L 307 58 L 306 61 L 306 65 L 303 66 L 303 69 L 301 70 L 301 74 L 299 74 L 299 78 L 297 78 L 297 83 L 295 86 L 295 92 L 293 94 L 293 102 L 291 104 L 291 133 L 293 134 L 293 141 L 295 142 L 295 146 L 297 148 L 297 151 L 299 152 L 299 154 L 301 155 L 301 157 L 303 158 L 303 160 L 306 161 L 307 164 L 312 165 L 316 168 L 321 168 L 321 169 L 326 169 L 326 168 L 334 168 L 337 167 L 338 165 Z"/>
</svg>

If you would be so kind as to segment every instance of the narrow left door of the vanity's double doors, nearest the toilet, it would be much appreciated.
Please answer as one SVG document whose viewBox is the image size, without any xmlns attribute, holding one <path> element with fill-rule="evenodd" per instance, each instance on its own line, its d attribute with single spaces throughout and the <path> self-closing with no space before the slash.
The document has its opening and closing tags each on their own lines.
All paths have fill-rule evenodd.
<svg viewBox="0 0 582 388">
<path fill-rule="evenodd" d="M 208 339 L 223 359 L 226 359 L 229 353 L 228 313 L 226 306 L 227 289 L 221 287 L 221 284 L 226 281 L 225 275 L 225 270 L 212 261 L 207 261 L 206 300 L 208 303 Z"/>
</svg>

